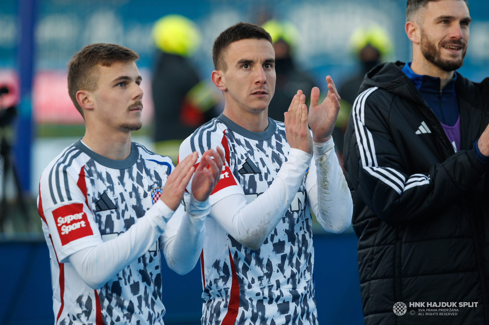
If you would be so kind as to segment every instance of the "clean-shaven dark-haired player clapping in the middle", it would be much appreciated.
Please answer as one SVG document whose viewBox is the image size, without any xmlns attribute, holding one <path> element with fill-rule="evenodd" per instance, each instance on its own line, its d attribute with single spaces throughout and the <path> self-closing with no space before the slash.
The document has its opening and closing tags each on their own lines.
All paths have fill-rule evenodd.
<svg viewBox="0 0 489 325">
<path fill-rule="evenodd" d="M 298 91 L 285 123 L 274 121 L 267 117 L 274 58 L 263 28 L 238 23 L 223 31 L 212 81 L 224 112 L 180 146 L 180 159 L 195 152 L 201 159 L 216 146 L 225 152 L 200 257 L 203 325 L 317 324 L 309 209 L 330 232 L 351 222 L 352 198 L 331 137 L 340 107 L 333 80 L 320 105 L 312 89 L 309 115 Z"/>
</svg>

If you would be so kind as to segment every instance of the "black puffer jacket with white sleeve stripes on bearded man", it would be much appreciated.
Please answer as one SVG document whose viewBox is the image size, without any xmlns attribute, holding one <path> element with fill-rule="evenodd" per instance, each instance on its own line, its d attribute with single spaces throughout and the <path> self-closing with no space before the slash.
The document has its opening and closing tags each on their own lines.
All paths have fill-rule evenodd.
<svg viewBox="0 0 489 325">
<path fill-rule="evenodd" d="M 489 122 L 489 79 L 457 76 L 455 153 L 403 65 L 366 75 L 345 134 L 364 321 L 488 324 L 489 178 L 472 145 Z"/>
</svg>

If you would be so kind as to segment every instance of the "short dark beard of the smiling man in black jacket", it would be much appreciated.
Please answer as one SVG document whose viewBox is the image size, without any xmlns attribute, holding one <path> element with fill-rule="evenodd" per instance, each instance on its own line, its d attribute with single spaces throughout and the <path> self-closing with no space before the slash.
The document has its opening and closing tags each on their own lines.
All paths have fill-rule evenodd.
<svg viewBox="0 0 489 325">
<path fill-rule="evenodd" d="M 428 39 L 428 36 L 424 33 L 424 30 L 421 29 L 421 53 L 424 58 L 443 71 L 450 72 L 457 70 L 464 64 L 464 58 L 467 53 L 467 42 L 463 40 L 453 40 L 453 41 L 441 41 L 440 47 L 448 44 L 456 44 L 462 47 L 462 58 L 454 58 L 451 60 L 443 59 L 440 53 L 440 49 Z"/>
</svg>

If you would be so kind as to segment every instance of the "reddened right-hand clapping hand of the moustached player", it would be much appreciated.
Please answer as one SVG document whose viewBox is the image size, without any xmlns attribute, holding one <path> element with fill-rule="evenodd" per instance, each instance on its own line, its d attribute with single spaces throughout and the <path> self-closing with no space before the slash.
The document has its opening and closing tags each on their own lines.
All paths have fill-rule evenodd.
<svg viewBox="0 0 489 325">
<path fill-rule="evenodd" d="M 214 159 L 213 159 L 214 158 Z M 207 200 L 221 179 L 224 151 L 220 147 L 204 152 L 192 180 L 192 194 L 197 201 Z"/>
</svg>

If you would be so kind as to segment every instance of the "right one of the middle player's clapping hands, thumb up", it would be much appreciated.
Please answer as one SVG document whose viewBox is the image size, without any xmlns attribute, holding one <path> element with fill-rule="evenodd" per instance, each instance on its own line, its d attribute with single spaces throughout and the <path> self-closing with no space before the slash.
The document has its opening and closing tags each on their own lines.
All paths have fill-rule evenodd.
<svg viewBox="0 0 489 325">
<path fill-rule="evenodd" d="M 330 140 L 333 133 L 334 124 L 338 118 L 340 97 L 333 79 L 326 77 L 328 82 L 328 96 L 318 105 L 319 88 L 311 90 L 311 105 L 309 106 L 309 126 L 312 130 L 314 142 L 326 142 Z"/>
</svg>

